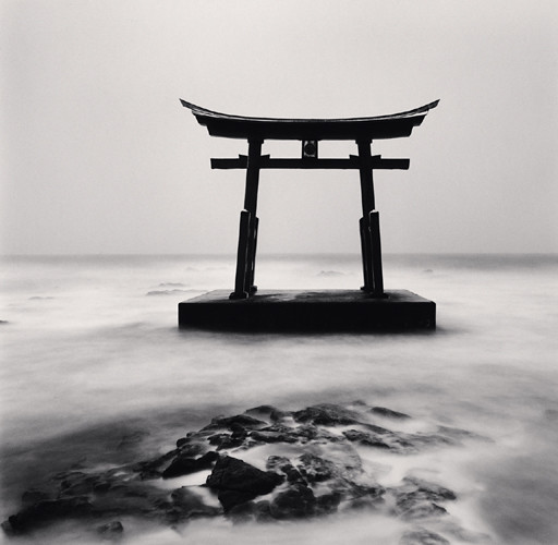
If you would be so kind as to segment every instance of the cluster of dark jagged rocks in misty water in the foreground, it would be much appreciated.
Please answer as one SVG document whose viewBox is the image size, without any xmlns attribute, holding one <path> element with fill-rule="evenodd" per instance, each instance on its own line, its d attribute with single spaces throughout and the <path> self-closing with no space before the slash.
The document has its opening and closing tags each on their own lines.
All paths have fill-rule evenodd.
<svg viewBox="0 0 558 545">
<path fill-rule="evenodd" d="M 456 448 L 461 439 L 473 440 L 474 434 L 449 427 L 403 433 L 376 425 L 377 415 L 411 419 L 364 402 L 322 403 L 299 411 L 260 405 L 218 416 L 157 458 L 119 467 L 107 460 L 108 470 L 82 467 L 45 475 L 49 488 L 27 491 L 21 510 L 2 528 L 8 534 L 25 534 L 80 519 L 94 524 L 104 540 L 117 540 L 124 532 L 118 519 L 134 517 L 168 525 L 214 517 L 234 522 L 300 520 L 354 509 L 411 522 L 449 517 L 447 505 L 458 499 L 453 491 L 412 475 L 397 486 L 383 486 L 365 468 L 375 452 L 386 463 L 386 455 Z M 121 443 L 133 447 L 141 439 L 142 434 L 128 435 Z M 178 479 L 185 475 L 197 475 L 197 483 L 205 484 L 184 486 Z M 169 489 L 173 479 L 177 487 Z M 448 542 L 417 528 L 405 532 L 400 543 Z"/>
</svg>

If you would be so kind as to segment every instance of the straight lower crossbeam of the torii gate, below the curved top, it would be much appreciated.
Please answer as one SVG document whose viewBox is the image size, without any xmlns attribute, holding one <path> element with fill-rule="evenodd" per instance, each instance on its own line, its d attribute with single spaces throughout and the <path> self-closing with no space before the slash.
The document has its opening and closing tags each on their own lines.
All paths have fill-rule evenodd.
<svg viewBox="0 0 558 545">
<path fill-rule="evenodd" d="M 383 159 L 381 156 L 372 157 L 372 168 L 380 170 L 408 170 L 409 159 Z M 236 159 L 211 159 L 213 169 L 245 169 L 247 157 L 239 155 Z M 348 159 L 291 159 L 271 158 L 264 155 L 258 160 L 260 169 L 341 169 L 357 170 L 361 168 L 359 156 L 351 155 Z"/>
</svg>

